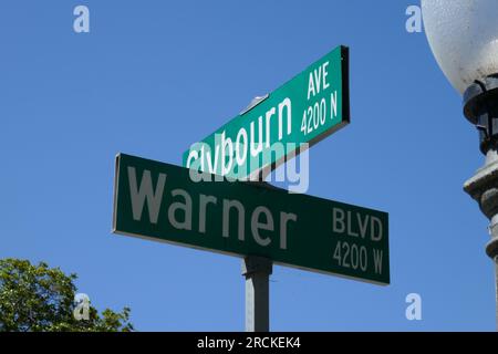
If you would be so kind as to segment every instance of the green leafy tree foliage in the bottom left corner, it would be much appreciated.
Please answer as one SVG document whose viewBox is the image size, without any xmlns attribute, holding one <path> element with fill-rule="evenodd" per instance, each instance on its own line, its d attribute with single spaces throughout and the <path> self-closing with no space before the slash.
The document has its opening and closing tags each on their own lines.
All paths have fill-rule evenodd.
<svg viewBox="0 0 498 354">
<path fill-rule="evenodd" d="M 98 314 L 89 306 L 89 319 L 76 320 L 76 274 L 64 274 L 46 263 L 0 260 L 0 332 L 131 332 L 129 309 Z"/>
</svg>

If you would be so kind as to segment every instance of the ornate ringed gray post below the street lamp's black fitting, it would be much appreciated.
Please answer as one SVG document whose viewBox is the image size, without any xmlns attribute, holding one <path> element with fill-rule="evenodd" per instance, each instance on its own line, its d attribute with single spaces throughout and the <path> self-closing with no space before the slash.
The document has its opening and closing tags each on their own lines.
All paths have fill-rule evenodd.
<svg viewBox="0 0 498 354">
<path fill-rule="evenodd" d="M 464 189 L 479 204 L 480 210 L 491 221 L 489 233 L 491 240 L 486 246 L 486 253 L 495 263 L 496 322 L 498 330 L 498 153 L 490 149 L 486 164 L 474 177 L 465 183 Z"/>
</svg>

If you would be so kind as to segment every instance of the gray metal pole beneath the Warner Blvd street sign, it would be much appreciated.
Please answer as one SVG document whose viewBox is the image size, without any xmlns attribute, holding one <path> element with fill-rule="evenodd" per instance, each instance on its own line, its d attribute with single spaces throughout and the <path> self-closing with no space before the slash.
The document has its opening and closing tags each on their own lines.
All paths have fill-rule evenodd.
<svg viewBox="0 0 498 354">
<path fill-rule="evenodd" d="M 271 260 L 255 256 L 242 260 L 246 277 L 246 332 L 270 331 Z"/>
</svg>

